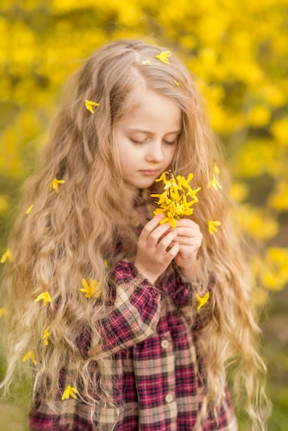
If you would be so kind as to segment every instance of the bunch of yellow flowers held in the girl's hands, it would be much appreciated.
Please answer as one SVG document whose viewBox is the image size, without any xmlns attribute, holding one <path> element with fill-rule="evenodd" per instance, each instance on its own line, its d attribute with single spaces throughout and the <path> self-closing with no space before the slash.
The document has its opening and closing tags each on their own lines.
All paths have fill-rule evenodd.
<svg viewBox="0 0 288 431">
<path fill-rule="evenodd" d="M 161 224 L 168 222 L 169 225 L 175 229 L 176 220 L 180 220 L 182 215 L 192 215 L 193 208 L 198 198 L 196 193 L 200 190 L 200 187 L 193 190 L 189 186 L 189 182 L 192 180 L 193 174 L 189 174 L 188 178 L 183 176 L 176 176 L 168 171 L 163 172 L 160 178 L 155 181 L 164 182 L 164 191 L 161 194 L 152 194 L 152 197 L 158 198 L 156 202 L 160 208 L 154 211 L 154 214 L 163 214 L 164 218 L 161 220 Z M 189 200 L 187 200 L 187 198 Z"/>
</svg>

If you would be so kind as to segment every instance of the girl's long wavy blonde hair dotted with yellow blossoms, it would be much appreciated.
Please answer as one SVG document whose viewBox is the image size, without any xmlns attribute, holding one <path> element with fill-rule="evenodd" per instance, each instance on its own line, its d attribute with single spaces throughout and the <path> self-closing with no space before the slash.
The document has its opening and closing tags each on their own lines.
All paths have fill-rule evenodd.
<svg viewBox="0 0 288 431">
<path fill-rule="evenodd" d="M 198 276 L 205 279 L 214 273 L 216 277 L 213 321 L 207 328 L 207 345 L 202 342 L 200 346 L 207 357 L 206 403 L 217 404 L 222 399 L 223 376 L 229 366 L 236 404 L 245 405 L 253 429 L 264 430 L 260 406 L 265 401 L 265 364 L 257 351 L 260 330 L 251 313 L 248 271 L 229 216 L 227 176 L 194 79 L 174 53 L 169 65 L 154 58 L 163 50 L 133 40 L 105 45 L 85 61 L 64 91 L 41 167 L 25 184 L 9 239 L 14 263 L 5 265 L 1 286 L 8 309 L 8 370 L 2 386 L 7 392 L 17 370 L 31 372 L 34 397 L 52 402 L 61 390 L 61 382 L 55 378 L 59 370 L 74 370 L 74 386 L 83 388 L 79 396 L 85 403 L 96 408 L 103 398 L 109 359 L 84 360 L 79 351 L 77 340 L 83 328 L 93 334 L 93 346 L 101 347 L 99 322 L 92 319 L 95 301 L 79 288 L 83 277 L 99 280 L 99 313 L 105 313 L 111 292 L 104 261 L 112 268 L 122 257 L 133 259 L 135 255 L 134 193 L 121 178 L 114 130 L 134 109 L 137 101 L 130 94 L 141 79 L 148 90 L 180 107 L 183 131 L 169 169 L 186 177 L 192 172 L 196 187 L 201 187 L 192 216 L 203 233 Z M 147 60 L 150 64 L 143 64 Z M 85 99 L 99 103 L 94 115 L 86 109 Z M 215 160 L 223 173 L 223 191 L 218 192 L 206 187 Z M 59 193 L 51 190 L 53 178 L 65 181 Z M 157 187 L 161 185 L 153 185 L 152 191 L 157 192 Z M 30 204 L 33 209 L 26 215 Z M 220 220 L 216 235 L 209 235 L 207 219 Z M 52 302 L 39 306 L 34 299 L 45 291 Z M 51 335 L 45 346 L 43 328 L 48 325 Z M 31 368 L 22 361 L 30 350 L 37 358 L 37 365 Z M 102 370 L 95 379 L 90 377 L 92 363 L 99 366 L 93 369 Z"/>
</svg>

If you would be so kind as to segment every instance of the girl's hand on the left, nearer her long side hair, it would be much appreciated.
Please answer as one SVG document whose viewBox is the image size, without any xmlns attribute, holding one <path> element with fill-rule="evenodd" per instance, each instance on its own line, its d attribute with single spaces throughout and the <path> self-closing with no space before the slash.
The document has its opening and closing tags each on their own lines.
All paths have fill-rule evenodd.
<svg viewBox="0 0 288 431">
<path fill-rule="evenodd" d="M 152 218 L 141 232 L 134 265 L 152 284 L 167 269 L 179 251 L 177 232 L 168 223 L 159 224 L 162 214 Z M 167 251 L 167 247 L 170 247 Z"/>
</svg>

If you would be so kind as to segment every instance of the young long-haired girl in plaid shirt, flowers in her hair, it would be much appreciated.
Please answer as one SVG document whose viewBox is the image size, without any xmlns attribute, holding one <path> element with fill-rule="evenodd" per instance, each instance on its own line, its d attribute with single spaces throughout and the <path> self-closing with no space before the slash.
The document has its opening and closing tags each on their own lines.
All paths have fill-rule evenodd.
<svg viewBox="0 0 288 431">
<path fill-rule="evenodd" d="M 249 429 L 265 429 L 259 329 L 218 167 L 174 53 L 117 41 L 74 74 L 2 257 L 3 386 L 19 364 L 31 371 L 30 430 L 235 431 L 227 367 Z M 194 174 L 193 215 L 153 215 L 163 171 Z"/>
</svg>

